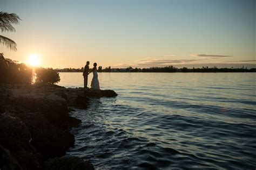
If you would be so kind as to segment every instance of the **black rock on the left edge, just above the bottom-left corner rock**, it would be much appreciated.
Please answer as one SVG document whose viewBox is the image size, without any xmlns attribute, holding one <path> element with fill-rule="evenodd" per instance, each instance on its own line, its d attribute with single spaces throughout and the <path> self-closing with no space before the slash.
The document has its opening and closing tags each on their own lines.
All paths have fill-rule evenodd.
<svg viewBox="0 0 256 170">
<path fill-rule="evenodd" d="M 31 145 L 31 135 L 21 119 L 0 115 L 0 134 L 0 144 L 23 169 L 42 168 L 42 155 Z"/>
</svg>

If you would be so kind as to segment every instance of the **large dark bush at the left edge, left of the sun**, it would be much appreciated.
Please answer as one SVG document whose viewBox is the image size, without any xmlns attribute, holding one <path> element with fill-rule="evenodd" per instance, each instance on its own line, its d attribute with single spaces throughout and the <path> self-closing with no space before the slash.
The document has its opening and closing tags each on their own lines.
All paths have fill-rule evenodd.
<svg viewBox="0 0 256 170">
<path fill-rule="evenodd" d="M 6 61 L 8 61 L 8 68 L 1 69 L 0 83 L 31 83 L 32 69 L 30 67 L 11 59 L 6 59 Z"/>
</svg>

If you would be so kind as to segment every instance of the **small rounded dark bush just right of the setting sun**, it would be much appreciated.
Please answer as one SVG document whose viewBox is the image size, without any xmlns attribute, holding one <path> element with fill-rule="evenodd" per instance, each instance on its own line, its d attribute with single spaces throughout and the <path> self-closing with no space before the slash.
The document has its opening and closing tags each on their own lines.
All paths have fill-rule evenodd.
<svg viewBox="0 0 256 170">
<path fill-rule="evenodd" d="M 37 68 L 36 81 L 55 84 L 60 81 L 59 73 L 52 68 Z"/>
</svg>

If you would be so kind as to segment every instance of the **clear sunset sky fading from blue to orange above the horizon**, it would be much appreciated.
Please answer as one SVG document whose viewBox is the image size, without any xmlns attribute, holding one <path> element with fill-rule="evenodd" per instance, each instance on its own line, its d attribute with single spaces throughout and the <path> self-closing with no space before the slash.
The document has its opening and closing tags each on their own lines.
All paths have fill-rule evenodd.
<svg viewBox="0 0 256 170">
<path fill-rule="evenodd" d="M 3 1 L 22 20 L 17 52 L 6 58 L 42 67 L 125 68 L 201 63 L 256 63 L 256 1 Z M 216 64 L 215 64 L 216 63 Z"/>
</svg>

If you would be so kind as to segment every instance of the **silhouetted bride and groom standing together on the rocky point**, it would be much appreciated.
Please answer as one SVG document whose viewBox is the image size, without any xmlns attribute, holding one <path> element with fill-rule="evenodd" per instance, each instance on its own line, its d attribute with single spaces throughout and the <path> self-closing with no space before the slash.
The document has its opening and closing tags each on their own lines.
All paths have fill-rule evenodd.
<svg viewBox="0 0 256 170">
<path fill-rule="evenodd" d="M 86 62 L 86 65 L 84 66 L 84 72 L 83 72 L 83 76 L 84 76 L 84 88 L 88 88 L 87 87 L 87 83 L 88 83 L 88 75 L 92 72 L 93 73 L 93 77 L 92 77 L 92 81 L 91 81 L 91 88 L 92 89 L 99 89 L 99 80 L 98 80 L 98 73 L 97 73 L 97 63 L 93 63 L 93 68 L 90 71 L 89 68 L 90 65 L 90 61 Z"/>
</svg>

